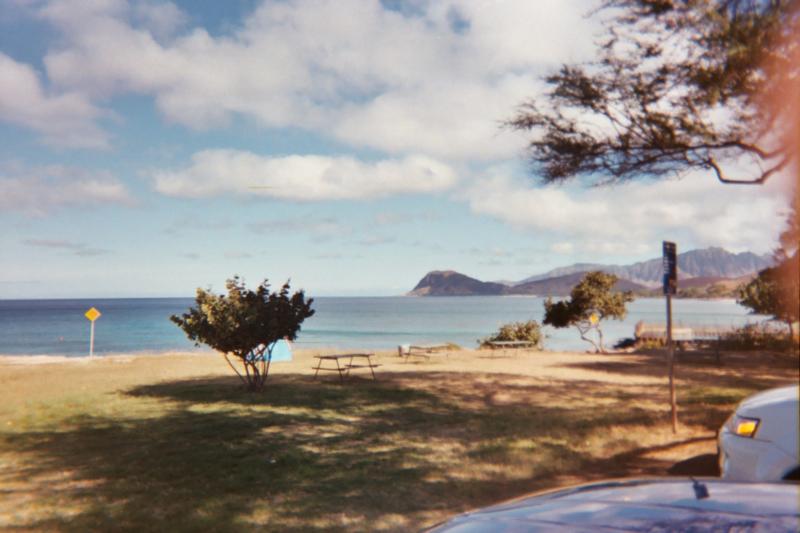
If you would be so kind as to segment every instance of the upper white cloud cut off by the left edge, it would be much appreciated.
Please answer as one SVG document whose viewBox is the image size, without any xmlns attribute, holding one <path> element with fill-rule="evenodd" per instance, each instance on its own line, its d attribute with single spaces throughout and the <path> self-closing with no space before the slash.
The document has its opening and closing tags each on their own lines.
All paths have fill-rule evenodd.
<svg viewBox="0 0 800 533">
<path fill-rule="evenodd" d="M 49 94 L 30 66 L 0 52 L 0 121 L 32 129 L 45 143 L 70 148 L 108 144 L 103 111 L 77 92 Z"/>
</svg>

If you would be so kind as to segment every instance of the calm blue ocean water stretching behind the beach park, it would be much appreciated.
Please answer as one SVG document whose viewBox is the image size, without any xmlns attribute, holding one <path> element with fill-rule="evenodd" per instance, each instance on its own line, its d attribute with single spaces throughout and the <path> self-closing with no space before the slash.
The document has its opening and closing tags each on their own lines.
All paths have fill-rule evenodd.
<svg viewBox="0 0 800 533">
<path fill-rule="evenodd" d="M 89 352 L 89 321 L 96 307 L 95 354 L 200 351 L 169 316 L 184 312 L 192 298 L 0 300 L 0 354 L 83 356 Z M 316 314 L 300 331 L 298 348 L 393 349 L 399 344 L 454 342 L 473 348 L 507 322 L 541 322 L 543 298 L 467 296 L 437 298 L 316 298 Z M 636 322 L 663 323 L 665 303 L 643 298 L 628 306 L 624 321 L 608 321 L 607 345 L 633 336 Z M 766 317 L 749 315 L 734 300 L 674 300 L 676 325 L 743 325 Z M 545 328 L 545 347 L 585 350 L 573 328 Z"/>
</svg>

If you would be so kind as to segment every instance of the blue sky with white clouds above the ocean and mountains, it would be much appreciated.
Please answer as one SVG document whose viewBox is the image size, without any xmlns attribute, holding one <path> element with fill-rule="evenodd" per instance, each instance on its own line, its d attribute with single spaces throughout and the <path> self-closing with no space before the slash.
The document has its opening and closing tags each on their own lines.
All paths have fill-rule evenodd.
<svg viewBox="0 0 800 533">
<path fill-rule="evenodd" d="M 542 187 L 499 127 L 592 57 L 586 1 L 0 0 L 0 298 L 240 274 L 401 294 L 427 271 L 769 252 L 786 177 Z"/>
</svg>

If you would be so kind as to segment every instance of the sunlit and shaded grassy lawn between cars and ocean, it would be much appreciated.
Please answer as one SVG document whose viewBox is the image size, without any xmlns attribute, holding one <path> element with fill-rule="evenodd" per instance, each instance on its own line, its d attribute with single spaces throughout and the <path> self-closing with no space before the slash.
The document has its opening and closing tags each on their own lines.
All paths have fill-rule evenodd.
<svg viewBox="0 0 800 533">
<path fill-rule="evenodd" d="M 379 381 L 345 385 L 303 362 L 261 394 L 158 358 L 0 368 L 0 528 L 417 530 L 532 490 L 664 475 L 713 450 L 743 396 L 797 379 L 791 357 L 686 363 L 673 435 L 658 357 L 550 373 L 461 357 L 385 355 Z"/>
</svg>

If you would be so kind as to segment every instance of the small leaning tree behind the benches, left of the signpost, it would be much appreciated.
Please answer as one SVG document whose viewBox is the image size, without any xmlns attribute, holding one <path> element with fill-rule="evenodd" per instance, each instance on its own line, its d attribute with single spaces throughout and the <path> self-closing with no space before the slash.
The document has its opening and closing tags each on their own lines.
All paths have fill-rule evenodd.
<svg viewBox="0 0 800 533">
<path fill-rule="evenodd" d="M 544 302 L 544 323 L 555 328 L 575 326 L 581 339 L 594 346 L 595 352 L 605 353 L 600 324 L 607 318 L 622 320 L 627 314 L 625 305 L 633 301 L 633 293 L 612 292 L 617 276 L 605 272 L 589 272 L 572 288 L 568 300 Z M 589 334 L 594 331 L 595 341 Z"/>
</svg>

